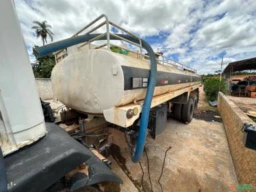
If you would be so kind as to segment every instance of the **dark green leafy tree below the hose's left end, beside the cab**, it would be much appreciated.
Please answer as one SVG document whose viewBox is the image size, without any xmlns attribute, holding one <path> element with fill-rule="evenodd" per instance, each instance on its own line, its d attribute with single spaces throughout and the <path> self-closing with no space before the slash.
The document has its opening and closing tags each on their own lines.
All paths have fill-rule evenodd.
<svg viewBox="0 0 256 192">
<path fill-rule="evenodd" d="M 45 57 L 37 57 L 35 53 L 34 55 L 35 55 L 35 58 L 37 59 L 35 63 L 32 63 L 32 69 L 35 77 L 39 77 L 39 78 L 51 77 L 51 70 L 53 70 L 53 67 L 55 66 L 54 55 L 52 53 Z"/>
</svg>

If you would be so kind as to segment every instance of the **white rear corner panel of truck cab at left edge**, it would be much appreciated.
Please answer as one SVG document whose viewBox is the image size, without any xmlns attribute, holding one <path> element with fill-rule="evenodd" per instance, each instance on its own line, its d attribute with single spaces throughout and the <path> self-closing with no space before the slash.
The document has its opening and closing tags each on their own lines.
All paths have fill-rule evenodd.
<svg viewBox="0 0 256 192">
<path fill-rule="evenodd" d="M 33 71 L 12 1 L 0 4 L 0 146 L 17 151 L 47 131 Z"/>
</svg>

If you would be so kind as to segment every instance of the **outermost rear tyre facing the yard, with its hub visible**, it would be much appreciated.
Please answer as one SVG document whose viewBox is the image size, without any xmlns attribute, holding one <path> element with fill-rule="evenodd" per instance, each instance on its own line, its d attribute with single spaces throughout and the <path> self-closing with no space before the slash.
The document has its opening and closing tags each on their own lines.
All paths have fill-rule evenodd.
<svg viewBox="0 0 256 192">
<path fill-rule="evenodd" d="M 181 118 L 184 123 L 190 123 L 193 119 L 195 109 L 195 102 L 192 97 L 189 97 L 187 104 L 184 104 L 182 107 Z"/>
</svg>

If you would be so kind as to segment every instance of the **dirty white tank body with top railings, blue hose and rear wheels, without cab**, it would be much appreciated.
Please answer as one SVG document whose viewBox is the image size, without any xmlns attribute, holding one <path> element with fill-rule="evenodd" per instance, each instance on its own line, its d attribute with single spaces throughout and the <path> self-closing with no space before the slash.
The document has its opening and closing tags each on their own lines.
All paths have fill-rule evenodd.
<svg viewBox="0 0 256 192">
<path fill-rule="evenodd" d="M 95 33 L 103 27 L 105 33 Z M 116 41 L 127 44 L 120 46 Z M 85 114 L 87 125 L 80 126 L 83 134 L 92 133 L 95 127 L 88 123 L 99 118 L 122 130 L 133 130 L 137 134 L 134 162 L 143 153 L 147 130 L 155 138 L 165 129 L 167 113 L 185 123 L 193 118 L 201 86 L 196 71 L 154 53 L 147 42 L 106 15 L 71 38 L 34 51 L 39 56 L 55 52 L 53 94 L 69 109 L 62 116 L 71 111 Z"/>
</svg>

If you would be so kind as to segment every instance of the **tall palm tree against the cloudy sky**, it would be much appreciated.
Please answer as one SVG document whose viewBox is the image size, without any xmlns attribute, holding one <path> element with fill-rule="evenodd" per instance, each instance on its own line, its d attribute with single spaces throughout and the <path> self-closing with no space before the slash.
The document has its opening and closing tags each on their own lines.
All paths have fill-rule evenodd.
<svg viewBox="0 0 256 192">
<path fill-rule="evenodd" d="M 51 25 L 47 24 L 47 21 L 39 22 L 39 21 L 33 21 L 35 25 L 32 27 L 32 29 L 35 29 L 35 34 L 38 37 L 42 38 L 43 45 L 47 43 L 47 37 L 51 38 L 51 41 L 53 41 L 53 32 L 51 32 Z"/>
</svg>

